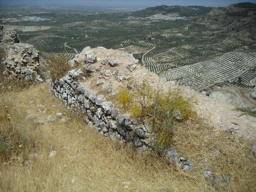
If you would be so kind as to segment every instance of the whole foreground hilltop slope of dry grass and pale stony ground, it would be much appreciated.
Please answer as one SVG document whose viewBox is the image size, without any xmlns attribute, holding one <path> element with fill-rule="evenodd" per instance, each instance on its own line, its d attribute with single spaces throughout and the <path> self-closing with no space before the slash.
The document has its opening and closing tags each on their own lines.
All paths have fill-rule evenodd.
<svg viewBox="0 0 256 192">
<path fill-rule="evenodd" d="M 74 64 L 73 70 L 64 70 L 69 64 Z M 58 68 L 64 70 L 61 77 L 69 74 L 57 78 L 59 85 L 62 84 L 55 87 L 59 93 L 51 81 L 52 90 L 48 83 L 26 86 L 21 91 L 15 90 L 13 85 L 3 89 L 4 84 L 1 84 L 1 191 L 231 192 L 255 189 L 255 117 L 240 116 L 241 112 L 233 111 L 231 105 L 211 100 L 188 87 L 177 86 L 175 82 L 166 82 L 140 66 L 131 53 L 86 47 L 69 63 L 66 61 L 66 65 L 62 63 Z M 51 70 L 52 76 L 60 71 Z M 57 79 L 53 78 L 53 81 L 57 83 Z M 122 110 L 116 97 L 118 88 L 130 86 L 135 91 L 136 84 L 133 83 L 143 81 L 156 90 L 180 89 L 175 102 L 183 102 L 179 100 L 183 96 L 193 96 L 190 104 L 198 115 L 193 113 L 194 117 L 182 123 L 175 121 L 177 127 L 172 130 L 170 139 L 172 147 L 182 155 L 178 159 L 180 162 L 191 159 L 191 169 L 180 169 L 166 159 L 165 154 L 152 153 L 153 148 L 144 151 L 137 150 L 135 143 L 124 142 L 122 145 L 123 142 L 111 137 L 110 129 L 108 134 L 103 134 L 96 123 L 92 124 L 86 118 L 96 112 L 98 119 L 106 117 L 100 113 L 100 106 L 104 105 L 109 114 L 105 120 L 109 123 L 113 108 L 110 115 L 106 105 L 113 102 L 115 108 Z M 13 82 L 17 81 L 14 79 Z M 102 95 L 96 97 L 94 91 Z M 94 106 L 91 101 L 91 105 L 86 102 L 87 97 L 94 100 Z M 78 100 L 88 107 L 79 108 Z M 86 113 L 84 108 L 88 108 Z M 129 117 L 130 112 L 126 112 L 125 116 Z M 123 121 L 119 116 L 117 119 L 119 128 Z M 131 119 L 125 117 L 125 123 L 131 125 Z M 138 129 L 130 129 L 133 135 L 134 132 L 138 134 Z M 148 139 L 143 137 L 145 141 Z"/>
</svg>

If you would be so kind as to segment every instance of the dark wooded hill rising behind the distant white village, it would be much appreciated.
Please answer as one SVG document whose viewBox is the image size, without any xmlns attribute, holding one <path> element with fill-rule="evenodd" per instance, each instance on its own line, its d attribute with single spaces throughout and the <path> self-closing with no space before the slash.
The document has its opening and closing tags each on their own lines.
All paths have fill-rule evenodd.
<svg viewBox="0 0 256 192">
<path fill-rule="evenodd" d="M 195 16 L 195 15 L 205 15 L 212 11 L 212 7 L 204 7 L 204 6 L 167 6 L 167 5 L 160 5 L 156 7 L 149 7 L 138 12 L 134 12 L 134 16 L 150 16 L 157 13 L 162 14 L 174 14 L 180 16 Z"/>
</svg>

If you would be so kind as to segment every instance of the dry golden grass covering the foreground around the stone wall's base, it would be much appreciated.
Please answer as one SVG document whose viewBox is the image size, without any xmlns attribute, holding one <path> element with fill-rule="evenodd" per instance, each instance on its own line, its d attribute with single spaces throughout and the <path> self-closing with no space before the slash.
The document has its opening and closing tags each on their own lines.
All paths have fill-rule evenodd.
<svg viewBox="0 0 256 192">
<path fill-rule="evenodd" d="M 35 100 L 30 108 L 29 100 Z M 89 129 L 79 116 L 69 113 L 55 98 L 48 84 L 2 94 L 0 101 L 1 107 L 7 104 L 16 108 L 13 124 L 27 130 L 34 140 L 29 153 L 42 155 L 33 160 L 31 168 L 21 161 L 0 162 L 0 191 L 164 191 L 164 186 L 170 191 L 208 192 L 218 188 L 219 191 L 255 191 L 252 143 L 243 139 L 237 142 L 227 133 L 217 134 L 201 120 L 188 121 L 174 132 L 176 148 L 194 163 L 192 171 L 183 172 L 162 158 L 139 153 Z M 39 107 L 40 104 L 44 107 Z M 39 115 L 37 108 L 44 109 L 45 113 Z M 37 120 L 45 121 L 48 115 L 54 116 L 57 112 L 72 118 L 66 123 L 57 119 L 55 123 L 37 127 L 33 122 L 24 122 L 30 113 L 35 114 Z M 82 133 L 78 133 L 80 129 Z M 49 158 L 51 142 L 56 143 L 57 155 Z M 202 176 L 205 169 L 212 169 L 215 175 L 230 175 L 232 180 L 228 185 L 214 188 Z M 127 180 L 129 187 L 124 188 L 122 182 Z"/>
</svg>

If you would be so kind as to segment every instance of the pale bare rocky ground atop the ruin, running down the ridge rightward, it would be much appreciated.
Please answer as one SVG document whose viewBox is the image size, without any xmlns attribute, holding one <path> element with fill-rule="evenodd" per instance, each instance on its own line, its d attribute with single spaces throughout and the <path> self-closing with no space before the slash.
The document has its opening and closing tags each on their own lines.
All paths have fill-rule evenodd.
<svg viewBox="0 0 256 192">
<path fill-rule="evenodd" d="M 98 61 L 91 64 L 93 68 L 96 69 L 95 72 L 91 73 L 91 76 L 81 80 L 82 85 L 88 88 L 91 92 L 98 91 L 103 94 L 106 99 L 112 100 L 115 103 L 116 89 L 119 86 L 127 86 L 128 77 L 133 77 L 136 81 L 142 82 L 147 79 L 148 83 L 153 87 L 162 87 L 164 90 L 168 88 L 176 88 L 178 85 L 176 82 L 167 82 L 164 78 L 157 76 L 156 74 L 150 72 L 148 69 L 140 66 L 138 60 L 136 60 L 132 54 L 125 53 L 120 50 L 105 49 L 103 47 L 90 48 L 86 47 L 84 50 L 77 54 L 75 60 L 79 63 L 84 61 L 84 56 L 92 54 L 97 57 Z M 105 59 L 115 58 L 118 61 L 116 67 L 111 67 L 108 65 L 102 65 L 101 62 Z M 84 62 L 83 62 L 84 63 Z M 136 65 L 136 68 L 131 72 L 127 66 Z M 82 67 L 82 66 L 81 66 Z M 107 70 L 107 73 L 106 73 Z M 118 72 L 122 71 L 122 75 Z M 110 72 L 110 73 L 109 73 Z M 105 73 L 108 75 L 106 76 Z M 96 85 L 96 82 L 102 82 L 102 84 Z M 108 93 L 105 87 L 112 82 L 112 92 Z M 205 119 L 207 124 L 212 125 L 212 127 L 219 131 L 228 131 L 232 134 L 243 135 L 249 139 L 255 139 L 256 136 L 256 118 L 252 116 L 240 116 L 241 112 L 234 111 L 234 106 L 213 100 L 199 92 L 194 91 L 189 87 L 180 86 L 186 95 L 195 95 L 195 111 L 196 113 Z M 115 106 L 120 108 L 118 104 Z"/>
</svg>

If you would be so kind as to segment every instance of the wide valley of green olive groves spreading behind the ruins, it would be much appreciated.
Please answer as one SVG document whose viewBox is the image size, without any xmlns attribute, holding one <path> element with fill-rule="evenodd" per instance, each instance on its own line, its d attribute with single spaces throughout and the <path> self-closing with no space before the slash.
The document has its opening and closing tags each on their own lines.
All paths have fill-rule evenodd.
<svg viewBox="0 0 256 192">
<path fill-rule="evenodd" d="M 216 82 L 247 90 L 255 86 L 255 15 L 201 15 L 187 20 L 135 19 L 132 13 L 60 12 L 36 16 L 49 20 L 12 25 L 50 26 L 18 34 L 21 41 L 30 39 L 29 43 L 36 48 L 53 55 L 61 53 L 73 58 L 75 50 L 81 52 L 86 46 L 119 49 L 133 45 L 147 50 L 134 53 L 141 65 L 164 73 L 168 80 L 198 89 Z M 45 38 L 33 40 L 40 35 Z M 247 56 L 250 63 L 245 59 Z"/>
</svg>

